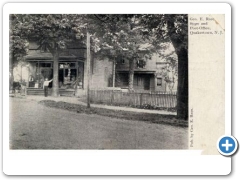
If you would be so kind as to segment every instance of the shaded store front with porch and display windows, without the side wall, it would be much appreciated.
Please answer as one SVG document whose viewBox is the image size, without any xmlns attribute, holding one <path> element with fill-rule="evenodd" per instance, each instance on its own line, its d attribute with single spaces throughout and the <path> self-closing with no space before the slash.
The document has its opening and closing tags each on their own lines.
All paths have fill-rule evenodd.
<svg viewBox="0 0 240 180">
<path fill-rule="evenodd" d="M 84 62 L 86 48 L 81 45 L 69 45 L 59 54 L 58 80 L 61 92 L 73 92 L 84 88 Z M 28 55 L 25 61 L 13 69 L 14 81 L 25 82 L 27 91 L 43 89 L 45 79 L 53 78 L 53 56 L 37 43 L 29 42 Z M 52 87 L 52 83 L 49 84 Z"/>
</svg>

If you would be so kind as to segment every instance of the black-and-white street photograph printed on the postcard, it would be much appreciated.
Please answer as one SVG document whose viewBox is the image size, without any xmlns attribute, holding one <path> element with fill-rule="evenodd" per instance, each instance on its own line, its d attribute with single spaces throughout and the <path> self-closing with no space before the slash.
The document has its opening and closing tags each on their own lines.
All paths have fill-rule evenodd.
<svg viewBox="0 0 240 180">
<path fill-rule="evenodd" d="M 187 14 L 10 14 L 9 148 L 188 149 Z"/>
</svg>

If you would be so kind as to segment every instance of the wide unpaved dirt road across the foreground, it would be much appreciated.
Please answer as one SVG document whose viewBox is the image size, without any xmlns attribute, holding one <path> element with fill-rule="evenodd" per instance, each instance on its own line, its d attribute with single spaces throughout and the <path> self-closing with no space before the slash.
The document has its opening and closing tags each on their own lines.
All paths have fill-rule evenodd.
<svg viewBox="0 0 240 180">
<path fill-rule="evenodd" d="M 185 149 L 187 128 L 80 114 L 10 98 L 11 149 Z"/>
</svg>

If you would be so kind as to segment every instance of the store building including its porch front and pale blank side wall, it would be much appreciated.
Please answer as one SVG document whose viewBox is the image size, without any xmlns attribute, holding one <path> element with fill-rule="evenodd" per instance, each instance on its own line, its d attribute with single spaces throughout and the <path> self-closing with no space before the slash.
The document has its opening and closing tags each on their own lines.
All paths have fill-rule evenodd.
<svg viewBox="0 0 240 180">
<path fill-rule="evenodd" d="M 61 50 L 58 61 L 58 81 L 60 95 L 86 94 L 88 74 L 86 62 L 86 48 L 84 45 L 73 43 Z M 53 78 L 53 56 L 39 45 L 29 42 L 28 55 L 25 61 L 13 69 L 14 82 L 24 82 L 27 94 L 43 94 L 43 82 Z M 109 58 L 98 58 L 91 52 L 90 59 L 90 87 L 103 89 L 112 86 L 112 65 Z M 51 91 L 52 82 L 49 84 Z"/>
</svg>

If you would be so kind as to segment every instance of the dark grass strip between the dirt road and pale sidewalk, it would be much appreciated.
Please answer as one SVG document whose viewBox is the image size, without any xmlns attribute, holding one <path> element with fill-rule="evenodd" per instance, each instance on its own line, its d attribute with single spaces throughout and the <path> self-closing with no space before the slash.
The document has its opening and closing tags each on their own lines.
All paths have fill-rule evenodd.
<svg viewBox="0 0 240 180">
<path fill-rule="evenodd" d="M 85 114 L 98 114 L 101 116 L 107 116 L 112 118 L 135 120 L 135 121 L 145 121 L 157 124 L 168 124 L 172 126 L 188 127 L 188 121 L 177 119 L 174 115 L 161 115 L 161 114 L 150 114 L 150 113 L 139 113 L 139 112 L 129 112 L 129 111 L 119 111 L 104 108 L 91 107 L 88 109 L 86 106 L 71 104 L 66 102 L 56 102 L 52 100 L 43 100 L 39 104 L 45 105 L 47 107 L 64 109 L 68 111 L 73 111 L 77 113 Z"/>
</svg>

